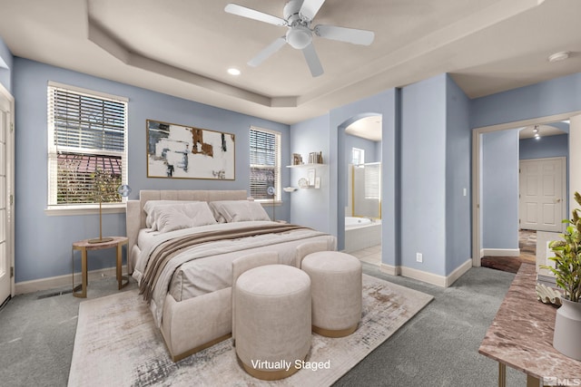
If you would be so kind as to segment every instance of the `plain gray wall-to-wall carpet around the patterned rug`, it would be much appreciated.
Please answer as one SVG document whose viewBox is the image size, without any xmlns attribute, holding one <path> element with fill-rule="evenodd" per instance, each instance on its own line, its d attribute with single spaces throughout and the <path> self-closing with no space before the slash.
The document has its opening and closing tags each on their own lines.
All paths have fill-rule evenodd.
<svg viewBox="0 0 581 387">
<path fill-rule="evenodd" d="M 372 265 L 364 264 L 364 272 L 435 299 L 336 386 L 497 385 L 497 363 L 478 354 L 478 346 L 514 274 L 475 267 L 445 289 L 384 275 Z M 132 282 L 123 291 L 135 287 Z M 42 298 L 60 290 L 69 289 L 17 295 L 0 311 L 1 385 L 66 385 L 82 299 L 70 293 Z M 115 279 L 107 277 L 89 284 L 88 298 L 116 292 Z M 507 369 L 507 386 L 525 384 L 523 373 Z"/>
</svg>

